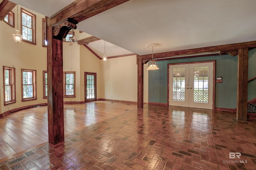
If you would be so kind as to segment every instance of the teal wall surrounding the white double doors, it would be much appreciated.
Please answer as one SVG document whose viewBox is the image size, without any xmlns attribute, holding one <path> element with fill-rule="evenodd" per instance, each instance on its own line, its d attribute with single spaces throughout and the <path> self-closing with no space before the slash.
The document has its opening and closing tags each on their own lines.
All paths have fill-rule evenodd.
<svg viewBox="0 0 256 170">
<path fill-rule="evenodd" d="M 215 85 L 215 107 L 236 108 L 237 56 L 219 55 L 157 61 L 159 70 L 148 71 L 148 102 L 166 103 L 168 90 L 168 64 L 196 61 L 216 61 L 216 77 L 223 83 Z M 249 79 L 256 76 L 256 49 L 249 51 Z M 256 80 L 248 84 L 248 100 L 256 98 Z"/>
</svg>

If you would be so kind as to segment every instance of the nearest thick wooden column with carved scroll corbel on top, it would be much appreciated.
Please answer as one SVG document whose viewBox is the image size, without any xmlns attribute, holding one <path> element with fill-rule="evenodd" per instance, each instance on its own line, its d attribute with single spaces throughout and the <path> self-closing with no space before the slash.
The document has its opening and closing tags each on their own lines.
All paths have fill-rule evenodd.
<svg viewBox="0 0 256 170">
<path fill-rule="evenodd" d="M 64 141 L 62 38 L 72 28 L 76 25 L 70 21 L 47 28 L 48 133 L 53 145 Z"/>
</svg>

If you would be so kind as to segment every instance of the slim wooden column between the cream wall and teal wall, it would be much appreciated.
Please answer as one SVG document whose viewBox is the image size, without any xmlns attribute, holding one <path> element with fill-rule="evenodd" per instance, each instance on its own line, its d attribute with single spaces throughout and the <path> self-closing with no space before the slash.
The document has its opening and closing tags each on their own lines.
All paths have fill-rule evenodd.
<svg viewBox="0 0 256 170">
<path fill-rule="evenodd" d="M 138 108 L 143 108 L 143 63 L 142 58 L 137 55 L 138 65 Z"/>
</svg>

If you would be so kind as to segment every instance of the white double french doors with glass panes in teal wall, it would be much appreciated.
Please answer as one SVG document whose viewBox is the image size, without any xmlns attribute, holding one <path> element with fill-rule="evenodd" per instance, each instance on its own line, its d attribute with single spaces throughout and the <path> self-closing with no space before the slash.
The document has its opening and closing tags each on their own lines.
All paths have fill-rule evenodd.
<svg viewBox="0 0 256 170">
<path fill-rule="evenodd" d="M 170 64 L 169 105 L 213 108 L 213 62 Z"/>
</svg>

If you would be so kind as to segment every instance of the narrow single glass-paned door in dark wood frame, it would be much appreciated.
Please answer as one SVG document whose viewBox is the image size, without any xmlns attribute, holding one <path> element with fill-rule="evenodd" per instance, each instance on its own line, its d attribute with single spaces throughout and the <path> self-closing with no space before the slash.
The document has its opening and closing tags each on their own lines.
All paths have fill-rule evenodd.
<svg viewBox="0 0 256 170">
<path fill-rule="evenodd" d="M 96 73 L 84 72 L 84 88 L 85 102 L 96 101 Z"/>
</svg>

